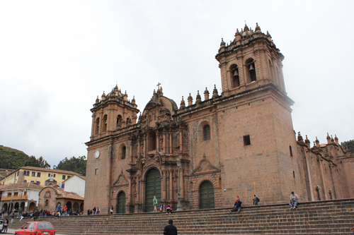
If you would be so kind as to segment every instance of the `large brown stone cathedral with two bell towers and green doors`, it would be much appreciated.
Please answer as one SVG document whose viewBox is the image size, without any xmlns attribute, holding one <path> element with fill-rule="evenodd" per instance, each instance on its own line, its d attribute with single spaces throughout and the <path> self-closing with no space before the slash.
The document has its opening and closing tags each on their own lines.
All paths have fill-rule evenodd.
<svg viewBox="0 0 354 235">
<path fill-rule="evenodd" d="M 222 40 L 215 56 L 222 92 L 193 101 L 169 99 L 161 87 L 139 112 L 118 85 L 93 104 L 85 210 L 152 212 L 152 200 L 176 210 L 354 197 L 354 155 L 327 134 L 311 145 L 292 127 L 282 75 L 284 56 L 256 25 Z M 179 164 L 179 166 L 178 166 Z M 179 187 L 179 190 L 178 190 Z"/>
</svg>

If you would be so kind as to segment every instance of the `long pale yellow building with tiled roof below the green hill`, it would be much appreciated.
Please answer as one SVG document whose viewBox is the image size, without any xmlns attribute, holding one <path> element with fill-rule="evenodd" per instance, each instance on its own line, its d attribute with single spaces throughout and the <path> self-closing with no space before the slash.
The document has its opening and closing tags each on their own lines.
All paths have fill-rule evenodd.
<svg viewBox="0 0 354 235">
<path fill-rule="evenodd" d="M 59 169 L 47 169 L 41 167 L 20 167 L 0 179 L 0 184 L 8 185 L 13 183 L 36 183 L 41 186 L 62 185 L 62 181 L 77 174 L 73 171 Z"/>
</svg>

